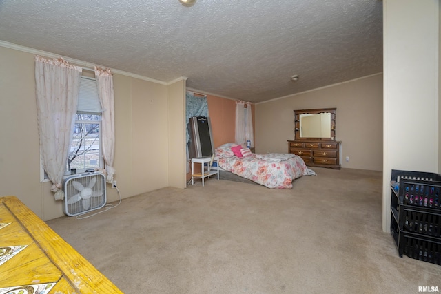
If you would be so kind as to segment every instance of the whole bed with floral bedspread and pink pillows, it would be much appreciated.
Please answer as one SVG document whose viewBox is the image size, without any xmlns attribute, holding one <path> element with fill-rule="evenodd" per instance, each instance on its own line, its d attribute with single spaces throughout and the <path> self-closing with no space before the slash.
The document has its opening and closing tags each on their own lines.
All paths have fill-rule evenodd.
<svg viewBox="0 0 441 294">
<path fill-rule="evenodd" d="M 295 154 L 252 154 L 248 148 L 234 143 L 216 148 L 215 156 L 220 171 L 231 172 L 272 189 L 292 189 L 296 178 L 315 174 Z"/>
</svg>

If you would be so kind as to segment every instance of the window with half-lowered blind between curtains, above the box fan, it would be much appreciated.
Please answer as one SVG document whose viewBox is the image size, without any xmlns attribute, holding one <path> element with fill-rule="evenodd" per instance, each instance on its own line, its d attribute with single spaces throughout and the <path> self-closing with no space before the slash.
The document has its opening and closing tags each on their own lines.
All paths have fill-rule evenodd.
<svg viewBox="0 0 441 294">
<path fill-rule="evenodd" d="M 101 155 L 101 104 L 96 80 L 81 77 L 78 108 L 72 133 L 66 172 L 103 167 Z"/>
</svg>

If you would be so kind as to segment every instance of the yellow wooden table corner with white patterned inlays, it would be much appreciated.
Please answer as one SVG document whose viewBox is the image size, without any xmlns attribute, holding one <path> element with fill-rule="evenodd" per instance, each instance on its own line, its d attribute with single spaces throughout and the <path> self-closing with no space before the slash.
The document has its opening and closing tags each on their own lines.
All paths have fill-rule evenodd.
<svg viewBox="0 0 441 294">
<path fill-rule="evenodd" d="M 14 196 L 0 197 L 0 293 L 123 293 Z"/>
</svg>

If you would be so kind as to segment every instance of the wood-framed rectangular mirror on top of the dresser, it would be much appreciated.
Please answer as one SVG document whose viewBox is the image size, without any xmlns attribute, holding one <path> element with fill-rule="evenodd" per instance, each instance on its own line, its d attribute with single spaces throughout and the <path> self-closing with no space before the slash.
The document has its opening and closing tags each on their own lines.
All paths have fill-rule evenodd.
<svg viewBox="0 0 441 294">
<path fill-rule="evenodd" d="M 336 108 L 294 110 L 295 140 L 335 140 Z"/>
</svg>

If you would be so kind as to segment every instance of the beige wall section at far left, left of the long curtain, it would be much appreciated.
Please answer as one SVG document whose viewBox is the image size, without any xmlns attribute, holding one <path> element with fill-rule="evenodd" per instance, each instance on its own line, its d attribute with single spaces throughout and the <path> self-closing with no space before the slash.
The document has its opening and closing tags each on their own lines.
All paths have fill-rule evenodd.
<svg viewBox="0 0 441 294">
<path fill-rule="evenodd" d="M 33 64 L 34 55 L 0 47 L 0 196 L 27 198 L 41 215 L 45 187 L 39 181 Z"/>
</svg>

